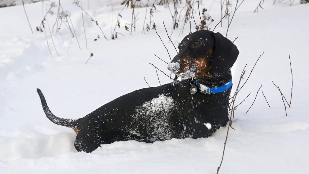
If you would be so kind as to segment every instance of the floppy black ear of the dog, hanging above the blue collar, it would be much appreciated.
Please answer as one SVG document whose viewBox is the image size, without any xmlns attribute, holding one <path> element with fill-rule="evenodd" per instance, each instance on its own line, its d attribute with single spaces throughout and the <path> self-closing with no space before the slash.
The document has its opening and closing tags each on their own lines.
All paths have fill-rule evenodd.
<svg viewBox="0 0 309 174">
<path fill-rule="evenodd" d="M 239 50 L 233 42 L 222 36 L 221 33 L 212 33 L 212 37 L 215 46 L 211 58 L 210 74 L 219 77 L 229 72 L 238 57 Z"/>
</svg>

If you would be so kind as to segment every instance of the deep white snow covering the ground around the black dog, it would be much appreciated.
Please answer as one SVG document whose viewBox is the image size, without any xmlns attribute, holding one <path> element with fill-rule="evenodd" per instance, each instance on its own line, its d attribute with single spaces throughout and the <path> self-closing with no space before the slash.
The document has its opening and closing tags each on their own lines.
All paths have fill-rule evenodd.
<svg viewBox="0 0 309 174">
<path fill-rule="evenodd" d="M 153 144 L 115 142 L 86 154 L 76 152 L 73 145 L 76 134 L 71 128 L 53 124 L 46 118 L 36 88 L 43 91 L 53 114 L 76 119 L 121 95 L 148 87 L 144 77 L 150 86 L 159 86 L 155 68 L 149 63 L 170 74 L 167 64 L 153 55 L 170 62 L 155 31 L 142 33 L 146 8 L 135 9 L 140 19 L 136 22 L 136 31 L 130 35 L 124 25 L 126 23 L 130 28 L 132 9 L 121 11 L 123 6 L 115 0 L 90 1 L 88 10 L 88 1 L 82 2 L 109 41 L 84 13 L 86 49 L 80 8 L 71 1 L 63 1 L 64 11 L 71 13 L 70 18 L 76 26 L 81 49 L 69 29 L 62 25 L 60 32 L 52 33 L 55 46 L 49 30 L 46 30 L 51 53 L 45 31 L 35 30 L 46 13 L 49 1 L 44 2 L 43 14 L 42 2 L 25 5 L 34 34 L 22 6 L 0 8 L 0 173 L 216 173 L 227 128 L 220 128 L 212 137 L 196 140 L 172 139 Z M 289 6 L 269 1 L 264 2 L 264 9 L 253 13 L 259 2 L 244 1 L 227 33 L 231 41 L 238 37 L 234 43 L 240 51 L 232 67 L 233 91 L 243 67 L 247 64 L 244 76 L 247 79 L 257 58 L 265 53 L 237 96 L 236 105 L 252 93 L 239 105 L 232 118 L 235 130 L 229 130 L 219 173 L 305 174 L 309 170 L 308 5 L 294 2 Z M 234 10 L 235 2 L 231 4 Z M 180 10 L 182 7 L 180 5 Z M 220 1 L 215 0 L 213 5 L 212 1 L 205 1 L 200 7 L 207 8 L 214 19 L 209 25 L 212 30 L 221 19 Z M 173 57 L 176 50 L 162 25 L 164 21 L 167 32 L 171 32 L 170 10 L 158 5 L 156 8 L 151 20 Z M 118 34 L 116 40 L 111 40 L 120 11 L 121 28 L 116 27 L 116 32 L 125 36 Z M 194 16 L 198 23 L 197 14 Z M 149 23 L 149 15 L 146 17 L 146 23 Z M 47 15 L 45 22 L 52 27 L 55 20 L 56 15 Z M 215 31 L 225 36 L 227 20 L 224 19 L 223 26 L 219 24 Z M 192 22 L 192 31 L 194 25 Z M 183 34 L 178 28 L 171 40 L 178 45 L 189 31 L 190 26 L 186 24 Z M 97 41 L 94 41 L 95 38 Z M 94 56 L 85 64 L 91 53 Z M 293 68 L 293 95 L 286 116 L 281 94 L 272 80 L 289 101 L 289 55 Z M 159 71 L 158 76 L 161 84 L 170 82 Z M 261 84 L 260 93 L 246 114 Z M 165 98 L 163 101 L 167 103 L 169 100 Z"/>
</svg>

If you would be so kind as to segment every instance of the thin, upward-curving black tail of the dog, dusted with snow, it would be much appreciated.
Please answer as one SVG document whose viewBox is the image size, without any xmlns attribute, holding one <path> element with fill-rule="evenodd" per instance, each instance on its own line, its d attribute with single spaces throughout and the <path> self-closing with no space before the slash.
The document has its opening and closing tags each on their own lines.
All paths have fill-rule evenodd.
<svg viewBox="0 0 309 174">
<path fill-rule="evenodd" d="M 78 119 L 64 119 L 64 118 L 59 118 L 56 115 L 53 115 L 53 113 L 49 110 L 49 107 L 47 106 L 47 103 L 46 103 L 46 100 L 45 100 L 45 97 L 44 97 L 42 91 L 37 88 L 37 93 L 40 96 L 42 107 L 43 107 L 43 110 L 45 112 L 46 117 L 50 121 L 52 121 L 54 124 L 73 128 L 73 130 L 77 134 L 78 133 L 78 128 L 77 128 L 77 125 L 78 125 L 77 120 Z"/>
</svg>

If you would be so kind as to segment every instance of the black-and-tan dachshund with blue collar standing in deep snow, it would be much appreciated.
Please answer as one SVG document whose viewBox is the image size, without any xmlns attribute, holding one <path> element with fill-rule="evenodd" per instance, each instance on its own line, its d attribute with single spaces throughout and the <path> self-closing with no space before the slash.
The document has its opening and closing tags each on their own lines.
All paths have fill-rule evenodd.
<svg viewBox="0 0 309 174">
<path fill-rule="evenodd" d="M 125 94 L 80 119 L 52 114 L 40 89 L 43 110 L 53 123 L 73 128 L 77 151 L 136 140 L 209 137 L 228 122 L 231 67 L 239 51 L 220 33 L 202 30 L 184 37 L 168 69 L 183 80 Z"/>
</svg>

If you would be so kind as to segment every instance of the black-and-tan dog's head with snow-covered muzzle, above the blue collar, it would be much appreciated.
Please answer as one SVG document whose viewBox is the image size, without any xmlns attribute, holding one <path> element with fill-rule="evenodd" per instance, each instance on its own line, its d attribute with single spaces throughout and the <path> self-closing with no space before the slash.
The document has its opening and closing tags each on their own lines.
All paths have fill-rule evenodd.
<svg viewBox="0 0 309 174">
<path fill-rule="evenodd" d="M 220 33 L 200 30 L 180 42 L 179 53 L 167 69 L 183 79 L 218 78 L 230 72 L 239 50 Z"/>
</svg>

